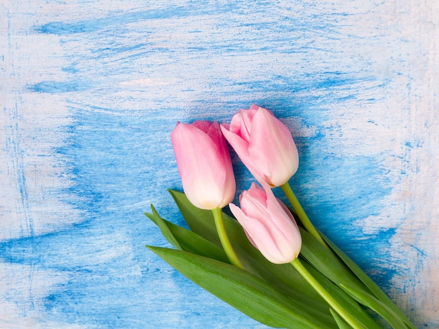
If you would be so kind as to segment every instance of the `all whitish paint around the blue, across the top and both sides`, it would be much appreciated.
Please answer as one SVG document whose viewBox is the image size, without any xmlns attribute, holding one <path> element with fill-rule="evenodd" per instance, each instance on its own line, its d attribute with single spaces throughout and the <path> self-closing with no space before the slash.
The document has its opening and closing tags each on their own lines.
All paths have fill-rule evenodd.
<svg viewBox="0 0 439 329">
<path fill-rule="evenodd" d="M 35 1 L 38 5 L 30 6 L 31 2 L 18 0 L 8 1 L 6 6 L 0 4 L 1 35 L 8 36 L 0 38 L 1 51 L 6 50 L 0 54 L 0 241 L 53 232 L 81 219 L 81 214 L 69 204 L 69 200 L 78 200 L 67 192 L 72 187 L 69 168 L 65 167 L 68 161 L 64 155 L 55 152 L 57 148 L 68 146 L 69 132 L 65 127 L 74 124 L 69 118 L 66 99 L 69 105 L 73 101 L 81 105 L 93 102 L 93 106 L 102 107 L 95 111 L 113 115 L 123 115 L 124 111 L 154 113 L 154 109 L 166 104 L 181 109 L 181 113 L 174 115 L 181 114 L 188 120 L 191 116 L 211 116 L 213 111 L 217 111 L 217 116 L 227 118 L 235 111 L 224 107 L 227 102 L 247 102 L 251 97 L 290 97 L 290 93 L 276 90 L 251 92 L 243 86 L 245 82 L 267 79 L 265 74 L 270 72 L 297 70 L 300 73 L 306 69 L 303 54 L 285 55 L 291 50 L 285 40 L 276 39 L 266 31 L 255 33 L 250 26 L 255 20 L 265 20 L 264 24 L 269 25 L 274 17 L 299 15 L 304 10 L 303 3 L 279 5 L 264 17 L 254 13 L 245 17 L 230 13 L 229 25 L 224 25 L 222 16 L 203 14 L 195 21 L 194 17 L 178 21 L 173 18 L 140 20 L 130 23 L 127 34 L 119 31 L 117 46 L 149 42 L 155 48 L 163 48 L 163 52 L 151 52 L 148 56 L 135 54 L 138 57 L 130 61 L 126 59 L 126 52 L 121 52 L 111 60 L 105 57 L 97 61 L 93 50 L 106 46 L 107 39 L 101 40 L 93 33 L 78 34 L 76 39 L 73 36 L 61 46 L 62 37 L 36 34 L 34 27 L 53 20 L 75 22 L 135 12 L 144 9 L 144 1 L 130 1 L 130 8 L 127 8 L 126 1 L 114 0 L 53 1 L 50 5 L 46 1 Z M 175 3 L 158 2 L 149 5 L 148 10 L 160 10 Z M 349 43 L 344 43 L 346 49 L 341 57 L 337 58 L 342 51 L 337 48 L 339 41 L 317 32 L 313 41 L 301 38 L 300 29 L 292 31 L 290 37 L 297 43 L 297 49 L 320 47 L 313 49 L 315 71 L 337 71 L 339 67 L 348 67 L 362 76 L 364 71 L 372 68 L 373 78 L 377 80 L 358 82 L 360 91 L 356 98 L 346 100 L 342 106 L 334 104 L 329 109 L 332 114 L 325 123 L 327 129 L 324 132 L 332 141 L 332 148 L 326 151 L 346 157 L 374 155 L 381 158 L 383 169 L 389 172 L 386 179 L 393 187 L 392 193 L 381 201 L 384 207 L 381 214 L 357 221 L 356 225 L 366 234 L 396 230 L 389 246 L 392 257 L 396 261 L 412 258 L 403 266 L 414 264 L 415 267 L 397 268 L 392 297 L 407 314 L 414 314 L 417 323 L 435 321 L 439 312 L 438 2 L 351 3 L 356 6 L 347 8 L 346 1 L 318 3 L 318 6 L 327 6 L 320 8 L 325 13 L 343 8 L 355 15 L 355 22 L 349 15 L 339 18 L 341 28 L 334 34 L 349 36 L 345 39 Z M 25 13 L 24 10 L 28 11 Z M 218 30 L 222 33 L 219 34 Z M 169 38 L 175 31 L 179 31 L 178 36 Z M 145 40 L 146 32 L 151 34 L 146 34 L 150 38 Z M 374 38 L 377 33 L 379 38 Z M 273 38 L 270 45 L 278 52 L 266 51 L 267 55 L 264 55 L 255 47 L 257 55 L 249 56 L 252 46 L 261 37 L 259 34 Z M 246 52 L 227 52 L 221 48 L 224 44 L 233 47 L 242 41 L 249 47 Z M 189 45 L 219 45 L 219 48 L 217 52 L 211 50 L 209 56 L 201 57 Z M 34 94 L 26 89 L 26 86 L 44 80 L 67 80 L 68 73 L 61 68 L 72 64 L 69 60 L 77 59 L 74 54 L 78 52 L 83 56 L 83 71 L 105 73 L 124 65 L 126 69 L 119 69 L 117 76 L 93 76 L 99 80 L 99 88 L 73 96 L 68 93 Z M 327 62 L 327 52 L 335 54 L 332 62 Z M 166 70 L 147 69 L 151 66 L 166 66 Z M 197 70 L 193 69 L 194 66 Z M 192 69 L 182 71 L 182 67 Z M 385 94 L 374 94 L 380 83 L 386 85 Z M 114 85 L 118 86 L 116 90 Z M 297 92 L 297 96 L 306 92 L 309 91 Z M 319 92 L 324 96 L 324 92 Z M 320 96 L 319 92 L 315 92 L 315 96 Z M 337 92 L 339 97 L 349 97 L 352 90 L 339 89 Z M 198 105 L 188 113 L 187 104 L 200 99 L 205 101 L 206 107 Z M 83 107 L 87 109 L 87 106 Z M 118 109 L 120 113 L 106 109 Z M 160 116 L 164 118 L 168 114 L 165 111 Z M 316 127 L 307 125 L 301 118 L 287 118 L 285 123 L 294 132 L 294 137 L 318 134 Z M 88 265 L 130 255 L 129 248 L 109 250 L 105 245 L 106 238 L 102 236 L 93 241 L 90 248 L 96 252 L 94 258 L 88 260 Z M 119 238 L 122 243 L 124 237 Z M 75 260 L 79 262 L 87 257 L 90 255 L 82 255 L 82 258 L 80 255 Z M 27 265 L 0 263 L 0 279 L 1 325 L 8 328 L 39 328 L 39 325 L 41 328 L 57 328 L 58 325 L 68 328 L 65 323 L 45 323 L 41 302 L 57 283 L 68 278 L 58 272 Z M 167 284 L 169 290 L 178 288 L 170 279 Z M 13 288 L 8 290 L 8 287 Z M 184 291 L 180 294 L 184 298 Z M 177 321 L 184 314 L 173 316 Z M 72 328 L 79 327 L 73 325 Z"/>
</svg>

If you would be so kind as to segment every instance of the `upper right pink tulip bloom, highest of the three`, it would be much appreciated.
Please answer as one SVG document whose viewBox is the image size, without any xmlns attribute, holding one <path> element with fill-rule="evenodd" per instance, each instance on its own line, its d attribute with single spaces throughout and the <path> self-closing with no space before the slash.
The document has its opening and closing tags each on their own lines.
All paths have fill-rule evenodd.
<svg viewBox="0 0 439 329">
<path fill-rule="evenodd" d="M 290 130 L 271 111 L 253 104 L 221 130 L 259 183 L 281 186 L 297 172 L 299 155 Z"/>
</svg>

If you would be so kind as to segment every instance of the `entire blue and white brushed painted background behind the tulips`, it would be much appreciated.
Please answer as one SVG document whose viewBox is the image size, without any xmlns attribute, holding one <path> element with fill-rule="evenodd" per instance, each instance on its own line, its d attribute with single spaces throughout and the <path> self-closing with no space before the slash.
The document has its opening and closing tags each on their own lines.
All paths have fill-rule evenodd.
<svg viewBox="0 0 439 329">
<path fill-rule="evenodd" d="M 147 251 L 168 244 L 142 214 L 182 223 L 175 122 L 252 103 L 290 127 L 316 225 L 438 328 L 438 18 L 426 0 L 1 1 L 0 328 L 264 328 Z"/>
</svg>

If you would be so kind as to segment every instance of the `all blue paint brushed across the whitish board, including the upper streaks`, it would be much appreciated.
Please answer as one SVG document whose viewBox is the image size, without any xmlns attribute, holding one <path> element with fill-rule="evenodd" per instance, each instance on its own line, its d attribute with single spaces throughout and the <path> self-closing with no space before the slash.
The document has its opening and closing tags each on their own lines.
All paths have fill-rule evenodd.
<svg viewBox="0 0 439 329">
<path fill-rule="evenodd" d="M 264 1 L 257 2 L 257 5 L 260 4 L 266 5 Z M 168 10 L 147 10 L 76 22 L 50 22 L 36 27 L 36 31 L 62 36 L 62 43 L 68 45 L 71 38 L 79 38 L 74 34 L 90 38 L 94 32 L 102 32 L 103 35 L 105 29 L 119 30 L 130 22 L 177 20 L 212 13 L 227 17 L 227 12 L 231 10 L 245 18 L 248 8 L 240 4 L 222 8 L 171 7 Z M 259 17 L 266 17 L 265 9 L 260 7 L 257 10 Z M 168 106 L 168 99 L 180 97 L 180 90 L 172 88 L 169 94 L 148 95 L 155 97 L 156 108 L 132 112 L 94 106 L 93 102 L 99 99 L 93 97 L 97 98 L 99 94 L 92 95 L 90 104 L 83 106 L 67 98 L 74 125 L 66 127 L 69 139 L 65 141 L 66 146 L 56 152 L 67 159 L 65 175 L 72 177 L 72 186 L 67 190 L 71 199 L 65 201 L 81 212 L 82 222 L 47 235 L 0 244 L 0 259 L 3 262 L 53 270 L 67 278 L 53 287 L 43 300 L 46 307 L 43 314 L 48 320 L 83 325 L 84 328 L 173 328 L 176 323 L 180 328 L 203 328 L 205 323 L 211 323 L 212 328 L 215 325 L 236 328 L 237 323 L 240 328 L 257 326 L 238 311 L 203 293 L 147 251 L 144 244 L 168 245 L 154 225 L 142 215 L 144 211 L 149 211 L 149 203 L 154 203 L 164 218 L 182 223 L 166 193 L 166 188 L 181 189 L 169 139 L 175 121 L 192 121 L 200 116 L 210 120 L 230 120 L 236 109 L 247 108 L 253 102 L 271 109 L 279 118 L 298 116 L 307 125 L 316 127 L 318 132 L 313 137 L 296 139 L 300 167 L 291 180 L 292 186 L 318 228 L 372 274 L 380 286 L 389 288 L 396 269 L 389 269 L 384 262 L 391 258 L 387 247 L 395 230 L 364 235 L 360 228 L 352 225 L 356 220 L 380 214 L 380 200 L 391 193 L 391 186 L 383 179 L 388 174 L 381 166 L 383 158 L 366 155 L 348 158 L 330 153 L 327 150 L 332 145 L 326 137 L 330 128 L 326 122 L 332 118 L 331 106 L 342 106 L 346 99 L 357 99 L 358 90 L 370 87 L 367 83 L 374 83 L 377 89 L 375 100 L 379 102 L 379 97 L 383 97 L 380 94 L 382 88 L 391 80 L 377 80 L 358 60 L 349 62 L 351 66 L 338 63 L 339 59 L 330 59 L 338 55 L 331 52 L 332 48 L 313 42 L 314 38 L 321 36 L 336 37 L 337 34 L 331 32 L 337 20 L 348 14 L 316 14 L 315 10 L 304 10 L 302 14 L 293 18 L 270 13 L 273 16 L 270 24 L 258 20 L 251 23 L 222 20 L 222 31 L 245 25 L 257 31 L 258 36 L 229 36 L 224 40 L 212 40 L 212 43 L 205 43 L 200 38 L 201 41 L 194 41 L 184 49 L 166 48 L 145 40 L 128 45 L 114 42 L 116 36 L 123 38 L 127 35 L 121 31 L 108 43 L 93 43 L 96 48 L 88 49 L 87 55 L 81 52 L 66 55 L 74 64 L 62 71 L 67 72 L 71 80 L 43 80 L 29 86 L 32 92 L 48 94 L 91 90 L 98 83 L 88 77 L 109 76 L 104 64 L 99 67 L 87 64 L 93 62 L 99 65 L 101 59 L 123 62 L 121 66 L 108 66 L 114 70 L 112 75 L 117 76 L 131 73 L 130 69 L 139 69 L 134 61 L 140 57 L 165 57 L 173 62 L 184 60 L 189 54 L 194 60 L 186 63 L 190 66 L 196 63 L 196 59 L 212 57 L 213 54 L 258 52 L 257 56 L 269 56 L 270 52 L 274 52 L 285 54 L 285 57 L 320 54 L 318 59 L 304 57 L 302 67 L 292 66 L 284 71 L 267 64 L 258 69 L 260 72 L 253 72 L 257 73 L 256 76 L 232 79 L 227 76 L 230 71 L 224 69 L 222 76 L 205 77 L 203 95 L 210 97 L 215 94 L 213 99 L 219 99 L 217 103 L 230 109 L 228 117 L 224 114 L 219 117 L 215 108 L 217 104 L 209 104 L 212 99 L 200 99 L 199 94 L 189 103 L 185 103 L 187 99 L 180 102 L 185 116 L 178 117 L 176 113 L 182 113 L 182 109 Z M 304 36 L 295 37 L 297 31 L 304 31 L 305 42 Z M 206 33 L 196 25 L 189 33 L 194 32 Z M 151 33 L 144 32 L 145 35 Z M 134 50 L 141 51 L 133 53 Z M 266 53 L 261 53 L 261 50 Z M 114 55 L 121 54 L 123 59 L 114 59 Z M 217 57 L 212 60 L 215 59 L 219 60 Z M 236 59 L 224 59 L 226 64 L 227 60 L 233 62 Z M 313 67 L 313 61 L 318 60 L 327 61 L 323 69 Z M 147 65 L 147 69 L 142 71 L 145 76 L 157 69 L 153 64 L 150 67 Z M 194 67 L 191 68 L 194 71 Z M 86 76 L 88 69 L 93 72 Z M 160 69 L 166 72 L 168 68 L 163 64 Z M 85 77 L 81 75 L 79 78 L 79 72 Z M 113 82 L 109 79 L 109 83 Z M 183 90 L 185 94 L 199 91 L 191 87 Z M 236 100 L 222 102 L 222 97 L 230 99 L 230 95 Z M 407 147 L 413 145 L 407 144 Z M 236 155 L 233 160 L 240 192 L 250 186 L 252 177 L 238 162 Z M 337 186 L 343 186 L 343 189 Z M 350 237 L 361 237 L 362 240 L 349 240 L 346 232 Z M 380 272 L 375 271 L 377 267 L 381 268 Z M 215 319 L 212 314 L 219 314 L 221 319 Z"/>
</svg>

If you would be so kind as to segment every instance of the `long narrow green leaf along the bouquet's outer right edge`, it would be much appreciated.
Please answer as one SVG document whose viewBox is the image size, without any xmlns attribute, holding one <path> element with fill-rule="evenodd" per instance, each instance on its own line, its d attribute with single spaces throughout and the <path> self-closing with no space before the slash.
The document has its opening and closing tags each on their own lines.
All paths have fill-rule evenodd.
<svg viewBox="0 0 439 329">
<path fill-rule="evenodd" d="M 416 327 L 410 322 L 410 320 L 407 318 L 407 316 L 405 316 L 403 311 L 401 311 L 396 306 L 396 304 L 393 303 L 393 301 L 390 299 L 390 297 L 388 295 L 386 295 L 386 293 L 384 293 L 384 291 L 381 290 L 381 288 L 379 288 L 377 283 L 374 283 L 374 281 L 372 281 L 372 279 L 370 279 L 370 277 L 367 276 L 367 274 L 365 274 L 365 272 L 363 272 L 363 269 L 360 269 L 360 267 L 356 264 L 356 262 L 351 260 L 351 258 L 349 258 L 349 256 L 346 255 L 346 253 L 344 253 L 342 251 L 342 249 L 340 249 L 338 246 L 336 246 L 330 239 L 325 237 L 325 235 L 323 235 L 322 232 L 319 231 L 319 233 L 320 233 L 321 237 L 323 237 L 323 239 L 325 240 L 327 245 L 330 246 L 332 251 L 334 251 L 339 256 L 339 258 L 341 258 L 343 260 L 343 262 L 351 269 L 351 271 L 358 277 L 358 279 L 360 279 L 360 281 L 362 281 L 365 284 L 365 286 L 367 286 L 367 288 L 369 288 L 369 290 L 372 291 L 372 293 L 381 302 L 383 302 L 400 319 L 402 319 L 404 321 L 405 325 L 407 325 L 407 328 L 416 329 Z"/>
</svg>

